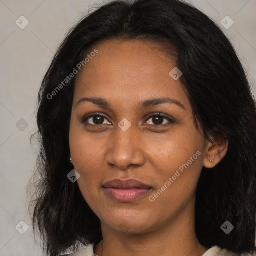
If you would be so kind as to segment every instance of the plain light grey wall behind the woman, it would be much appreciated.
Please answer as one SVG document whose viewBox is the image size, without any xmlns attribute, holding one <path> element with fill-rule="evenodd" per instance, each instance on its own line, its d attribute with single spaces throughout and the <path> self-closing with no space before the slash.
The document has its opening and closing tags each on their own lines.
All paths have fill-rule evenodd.
<svg viewBox="0 0 256 256">
<path fill-rule="evenodd" d="M 256 0 L 187 2 L 222 28 L 256 92 Z M 65 33 L 89 7 L 93 5 L 93 10 L 102 3 L 102 0 L 0 0 L 0 255 L 42 255 L 32 236 L 26 194 L 37 154 L 36 144 L 31 147 L 29 141 L 36 131 L 37 93 Z M 234 21 L 228 29 L 221 25 L 227 15 Z M 16 20 L 21 23 L 20 16 L 29 22 L 24 29 L 15 23 Z M 230 20 L 224 22 L 231 24 Z M 24 234 L 18 232 L 25 231 L 25 224 L 19 224 L 20 221 L 29 227 Z"/>
</svg>

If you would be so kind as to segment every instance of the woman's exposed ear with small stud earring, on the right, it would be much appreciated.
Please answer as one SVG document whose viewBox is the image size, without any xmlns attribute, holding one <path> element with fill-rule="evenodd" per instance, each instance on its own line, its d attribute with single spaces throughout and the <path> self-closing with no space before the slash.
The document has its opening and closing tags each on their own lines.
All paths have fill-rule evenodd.
<svg viewBox="0 0 256 256">
<path fill-rule="evenodd" d="M 212 141 L 207 139 L 203 159 L 203 166 L 208 169 L 217 165 L 224 158 L 228 149 L 228 140 L 226 136 L 210 136 L 210 139 Z"/>
</svg>

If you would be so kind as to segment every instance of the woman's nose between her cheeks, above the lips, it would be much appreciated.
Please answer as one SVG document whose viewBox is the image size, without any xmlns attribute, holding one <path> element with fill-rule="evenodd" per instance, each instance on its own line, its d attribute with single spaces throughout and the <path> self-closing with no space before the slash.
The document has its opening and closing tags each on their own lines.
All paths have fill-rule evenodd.
<svg viewBox="0 0 256 256">
<path fill-rule="evenodd" d="M 139 132 L 135 131 L 133 125 L 126 131 L 116 126 L 114 136 L 108 144 L 106 162 L 122 170 L 126 170 L 129 166 L 142 166 L 145 162 L 144 147 Z"/>
</svg>

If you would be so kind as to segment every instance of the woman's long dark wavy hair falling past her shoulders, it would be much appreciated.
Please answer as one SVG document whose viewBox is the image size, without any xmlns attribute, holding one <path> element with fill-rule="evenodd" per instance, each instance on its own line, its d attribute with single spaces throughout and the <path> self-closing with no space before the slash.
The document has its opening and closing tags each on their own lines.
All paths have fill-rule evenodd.
<svg viewBox="0 0 256 256">
<path fill-rule="evenodd" d="M 229 141 L 226 156 L 211 171 L 204 167 L 197 185 L 195 230 L 205 247 L 235 253 L 255 249 L 256 109 L 244 69 L 229 40 L 198 9 L 178 0 L 113 1 L 76 24 L 64 38 L 38 95 L 37 161 L 40 175 L 31 201 L 33 228 L 44 250 L 57 256 L 101 239 L 99 218 L 67 174 L 69 122 L 75 79 L 53 98 L 49 94 L 84 59 L 96 42 L 107 39 L 167 41 L 177 53 L 182 85 L 206 137 L 213 131 Z M 167 47 L 167 46 L 166 46 Z M 220 226 L 234 229 L 225 234 Z"/>
</svg>

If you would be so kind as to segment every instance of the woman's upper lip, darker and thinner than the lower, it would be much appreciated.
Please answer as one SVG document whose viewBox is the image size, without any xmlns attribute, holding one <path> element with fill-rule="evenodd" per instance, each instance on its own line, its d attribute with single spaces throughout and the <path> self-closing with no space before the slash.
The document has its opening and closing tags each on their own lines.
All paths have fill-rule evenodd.
<svg viewBox="0 0 256 256">
<path fill-rule="evenodd" d="M 136 180 L 136 179 L 112 179 L 103 184 L 103 187 L 111 188 L 146 188 L 151 189 L 150 186 Z"/>
</svg>

